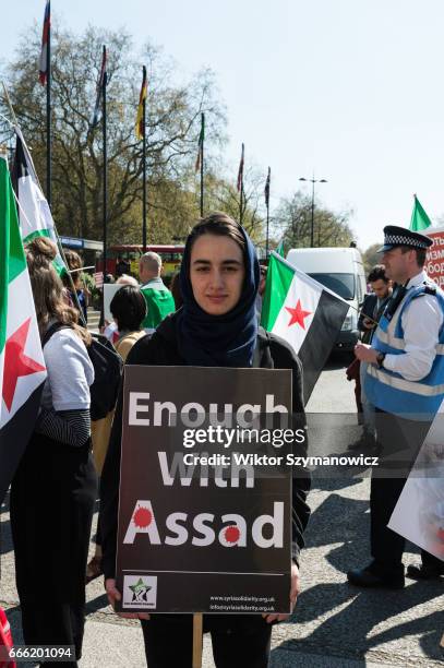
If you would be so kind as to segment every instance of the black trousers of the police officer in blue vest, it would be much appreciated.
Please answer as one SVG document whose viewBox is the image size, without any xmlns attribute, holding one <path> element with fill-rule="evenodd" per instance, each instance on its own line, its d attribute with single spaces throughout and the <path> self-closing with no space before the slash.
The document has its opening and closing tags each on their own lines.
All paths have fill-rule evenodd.
<svg viewBox="0 0 444 668">
<path fill-rule="evenodd" d="M 406 420 L 376 409 L 380 466 L 373 468 L 370 488 L 371 553 L 382 572 L 403 570 L 406 539 L 387 528 L 395 505 L 430 429 L 430 422 Z M 442 566 L 442 561 L 421 550 L 422 563 Z"/>
</svg>

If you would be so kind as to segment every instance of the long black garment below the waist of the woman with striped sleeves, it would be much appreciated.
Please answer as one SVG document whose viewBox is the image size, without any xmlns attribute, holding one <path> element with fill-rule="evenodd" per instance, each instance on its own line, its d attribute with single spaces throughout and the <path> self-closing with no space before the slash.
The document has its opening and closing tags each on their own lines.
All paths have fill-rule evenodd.
<svg viewBox="0 0 444 668">
<path fill-rule="evenodd" d="M 71 448 L 36 434 L 11 486 L 15 580 L 25 643 L 73 645 L 75 656 L 64 666 L 76 666 L 82 653 L 96 486 L 88 445 Z"/>
</svg>

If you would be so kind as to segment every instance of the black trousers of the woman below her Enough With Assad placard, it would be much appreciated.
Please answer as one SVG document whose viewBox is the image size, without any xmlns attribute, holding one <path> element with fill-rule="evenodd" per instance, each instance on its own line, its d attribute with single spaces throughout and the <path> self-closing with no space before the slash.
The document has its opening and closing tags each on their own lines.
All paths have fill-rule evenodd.
<svg viewBox="0 0 444 668">
<path fill-rule="evenodd" d="M 212 635 L 216 668 L 266 668 L 272 624 L 250 615 L 204 616 L 204 631 Z M 193 618 L 191 615 L 152 616 L 142 620 L 148 668 L 191 668 Z"/>
</svg>

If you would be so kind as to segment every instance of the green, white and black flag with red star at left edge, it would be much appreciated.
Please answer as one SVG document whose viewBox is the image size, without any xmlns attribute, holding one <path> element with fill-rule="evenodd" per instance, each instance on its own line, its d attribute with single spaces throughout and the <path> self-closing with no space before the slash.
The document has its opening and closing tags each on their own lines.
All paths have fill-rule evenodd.
<svg viewBox="0 0 444 668">
<path fill-rule="evenodd" d="M 0 156 L 0 503 L 33 431 L 45 379 L 11 179 Z"/>
</svg>

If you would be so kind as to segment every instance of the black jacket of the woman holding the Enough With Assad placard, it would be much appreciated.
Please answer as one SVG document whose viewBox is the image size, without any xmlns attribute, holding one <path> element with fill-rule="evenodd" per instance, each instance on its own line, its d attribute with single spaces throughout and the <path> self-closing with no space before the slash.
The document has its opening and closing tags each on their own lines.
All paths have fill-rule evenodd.
<svg viewBox="0 0 444 668">
<path fill-rule="evenodd" d="M 184 366 L 177 347 L 173 315 L 167 317 L 153 336 L 141 338 L 131 349 L 127 365 Z M 263 369 L 292 369 L 292 409 L 296 425 L 305 426 L 302 401 L 302 366 L 290 346 L 262 327 L 257 334 L 257 346 L 253 367 Z M 103 547 L 103 569 L 105 577 L 113 577 L 116 570 L 117 518 L 119 506 L 120 444 L 122 434 L 122 392 L 120 391 L 107 457 L 100 481 L 100 530 Z M 299 446 L 298 446 L 299 448 Z M 307 454 L 307 440 L 300 446 L 300 455 Z M 310 474 L 307 469 L 295 467 L 292 485 L 292 549 L 291 554 L 298 563 L 299 551 L 303 547 L 303 530 L 310 517 L 305 503 L 310 489 Z"/>
</svg>

